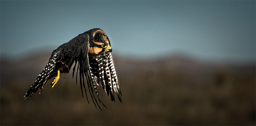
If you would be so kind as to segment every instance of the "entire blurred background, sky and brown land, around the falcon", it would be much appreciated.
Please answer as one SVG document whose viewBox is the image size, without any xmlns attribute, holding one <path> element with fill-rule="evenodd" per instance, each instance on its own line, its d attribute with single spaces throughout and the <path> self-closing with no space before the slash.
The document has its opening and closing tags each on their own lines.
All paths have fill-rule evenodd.
<svg viewBox="0 0 256 126">
<path fill-rule="evenodd" d="M 255 1 L 0 1 L 0 125 L 256 125 Z M 108 35 L 122 103 L 71 73 L 23 99 L 59 45 Z"/>
</svg>

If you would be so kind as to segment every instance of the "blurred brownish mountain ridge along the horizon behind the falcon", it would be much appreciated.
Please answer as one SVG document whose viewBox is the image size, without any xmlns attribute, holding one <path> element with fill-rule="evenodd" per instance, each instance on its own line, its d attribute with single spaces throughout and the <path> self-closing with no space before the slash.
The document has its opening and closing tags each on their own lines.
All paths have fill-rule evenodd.
<svg viewBox="0 0 256 126">
<path fill-rule="evenodd" d="M 10 81 L 35 80 L 42 69 L 49 61 L 51 52 L 36 53 L 31 56 L 19 59 L 8 60 L 1 58 L 1 85 Z M 125 58 L 113 54 L 118 75 L 129 76 L 136 72 L 156 72 L 158 70 L 178 71 L 191 74 L 195 77 L 210 77 L 216 69 L 230 69 L 233 72 L 253 72 L 253 65 L 229 65 L 211 62 L 198 61 L 184 54 L 175 54 L 166 57 L 150 60 L 139 60 L 135 58 Z"/>
</svg>

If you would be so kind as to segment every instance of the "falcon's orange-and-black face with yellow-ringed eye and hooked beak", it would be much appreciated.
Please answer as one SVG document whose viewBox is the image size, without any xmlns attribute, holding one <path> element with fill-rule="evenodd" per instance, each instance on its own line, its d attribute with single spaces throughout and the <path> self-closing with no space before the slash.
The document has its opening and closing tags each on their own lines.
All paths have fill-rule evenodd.
<svg viewBox="0 0 256 126">
<path fill-rule="evenodd" d="M 104 41 L 91 40 L 89 43 L 88 56 L 98 56 L 104 52 L 112 52 L 110 45 Z"/>
</svg>

